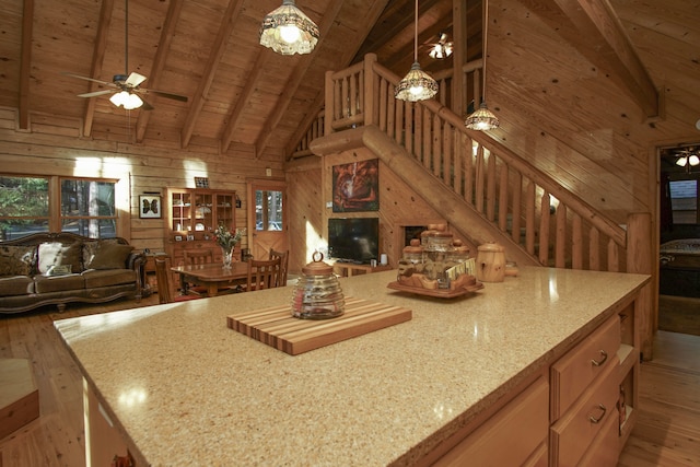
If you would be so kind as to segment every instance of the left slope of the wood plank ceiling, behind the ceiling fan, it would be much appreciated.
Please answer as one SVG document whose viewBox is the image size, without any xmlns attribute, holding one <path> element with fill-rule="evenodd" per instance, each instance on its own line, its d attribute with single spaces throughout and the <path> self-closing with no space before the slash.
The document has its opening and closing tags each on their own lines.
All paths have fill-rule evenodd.
<svg viewBox="0 0 700 467">
<path fill-rule="evenodd" d="M 479 0 L 470 3 L 478 7 Z M 280 0 L 2 1 L 0 106 L 19 109 L 21 129 L 36 125 L 42 116 L 59 117 L 82 121 L 81 136 L 95 139 L 211 145 L 222 152 L 235 142 L 253 145 L 257 154 L 285 153 L 322 108 L 326 70 L 342 69 L 369 51 L 378 52 L 397 73 L 410 68 L 411 0 L 299 1 L 319 26 L 320 40 L 313 54 L 292 57 L 258 44 L 262 17 L 280 4 Z M 423 2 L 421 42 L 435 42 L 451 24 L 451 1 Z M 433 61 L 427 47 L 421 47 L 425 65 Z M 427 68 L 451 65 L 443 61 Z M 115 74 L 131 71 L 148 77 L 141 87 L 184 95 L 188 102 L 151 93 L 144 98 L 153 110 L 128 113 L 112 105 L 109 95 L 78 97 L 104 86 L 65 74 L 112 82 Z"/>
</svg>

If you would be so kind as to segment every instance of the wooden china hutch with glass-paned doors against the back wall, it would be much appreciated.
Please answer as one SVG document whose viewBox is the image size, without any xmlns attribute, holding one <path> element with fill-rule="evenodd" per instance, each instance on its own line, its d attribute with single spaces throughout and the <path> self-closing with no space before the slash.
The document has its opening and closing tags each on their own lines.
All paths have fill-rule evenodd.
<svg viewBox="0 0 700 467">
<path fill-rule="evenodd" d="M 210 249 L 214 261 L 222 260 L 214 231 L 222 224 L 230 231 L 235 230 L 235 191 L 167 189 L 164 244 L 173 266 L 185 264 L 186 249 Z"/>
</svg>

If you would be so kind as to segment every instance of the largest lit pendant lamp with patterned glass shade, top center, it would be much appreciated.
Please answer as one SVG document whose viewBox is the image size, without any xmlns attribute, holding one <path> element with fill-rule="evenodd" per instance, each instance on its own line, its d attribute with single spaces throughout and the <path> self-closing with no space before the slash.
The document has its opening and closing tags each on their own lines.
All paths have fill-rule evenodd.
<svg viewBox="0 0 700 467">
<path fill-rule="evenodd" d="M 318 37 L 318 26 L 296 8 L 294 0 L 283 0 L 260 25 L 260 45 L 282 55 L 310 54 Z"/>
</svg>

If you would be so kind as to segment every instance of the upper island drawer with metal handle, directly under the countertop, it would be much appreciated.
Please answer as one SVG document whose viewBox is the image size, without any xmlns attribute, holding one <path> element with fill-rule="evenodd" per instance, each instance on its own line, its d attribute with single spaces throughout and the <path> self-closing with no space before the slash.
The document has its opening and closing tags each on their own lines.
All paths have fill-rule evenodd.
<svg viewBox="0 0 700 467">
<path fill-rule="evenodd" d="M 611 316 L 551 366 L 551 421 L 561 417 L 583 390 L 617 361 L 620 318 Z"/>
</svg>

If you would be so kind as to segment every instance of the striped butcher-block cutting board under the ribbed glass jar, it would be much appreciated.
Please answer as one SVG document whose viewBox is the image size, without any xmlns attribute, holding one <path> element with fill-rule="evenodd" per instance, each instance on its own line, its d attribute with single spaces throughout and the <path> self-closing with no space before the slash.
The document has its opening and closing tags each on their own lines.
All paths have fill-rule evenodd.
<svg viewBox="0 0 700 467">
<path fill-rule="evenodd" d="M 292 317 L 291 305 L 280 305 L 230 315 L 226 326 L 290 355 L 298 355 L 408 322 L 411 317 L 411 311 L 407 308 L 346 297 L 346 312 L 337 318 L 300 319 Z"/>
</svg>

